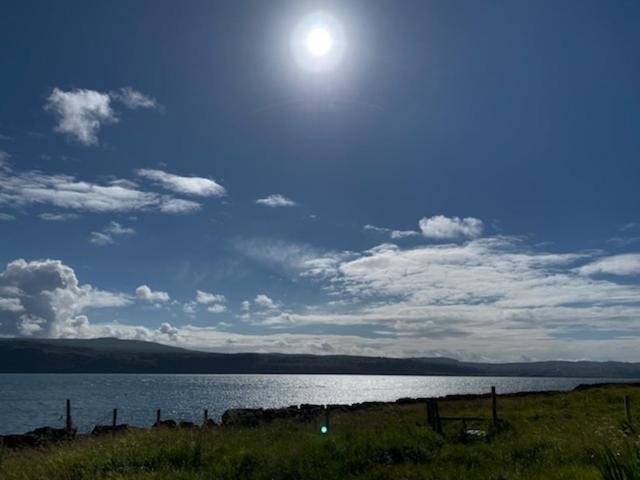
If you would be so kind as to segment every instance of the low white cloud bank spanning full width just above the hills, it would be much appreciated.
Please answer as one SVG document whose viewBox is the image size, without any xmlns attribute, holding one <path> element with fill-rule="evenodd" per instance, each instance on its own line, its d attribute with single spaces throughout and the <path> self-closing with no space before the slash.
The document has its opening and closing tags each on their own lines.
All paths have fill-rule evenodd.
<svg viewBox="0 0 640 480">
<path fill-rule="evenodd" d="M 233 326 L 221 332 L 168 323 L 94 324 L 85 310 L 126 305 L 129 297 L 79 285 L 58 261 L 16 260 L 0 274 L 0 335 L 117 336 L 228 352 L 637 357 L 640 287 L 580 273 L 602 260 L 590 253 L 546 252 L 512 237 L 413 248 L 382 244 L 342 257 L 328 251 L 336 264 L 322 271 L 317 265 L 324 254 L 315 251 L 318 262 L 303 262 L 298 279 L 320 283 L 333 301 L 294 312 L 260 293 L 242 304 L 244 311 L 255 308 L 260 334 L 228 331 Z M 146 288 L 145 296 L 159 293 Z M 201 291 L 200 298 L 221 311 L 219 294 Z M 311 326 L 318 333 L 304 333 Z M 598 336 L 585 339 L 580 332 Z"/>
</svg>

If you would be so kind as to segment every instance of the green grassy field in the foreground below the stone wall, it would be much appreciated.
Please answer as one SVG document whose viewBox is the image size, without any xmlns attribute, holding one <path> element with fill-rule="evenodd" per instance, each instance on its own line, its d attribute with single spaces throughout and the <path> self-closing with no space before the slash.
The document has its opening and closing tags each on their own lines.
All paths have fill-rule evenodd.
<svg viewBox="0 0 640 480">
<path fill-rule="evenodd" d="M 335 414 L 331 430 L 274 422 L 256 428 L 143 430 L 0 453 L 13 479 L 602 479 L 609 449 L 625 462 L 640 436 L 625 423 L 629 395 L 640 427 L 640 388 L 499 397 L 502 427 L 469 440 L 460 422 L 444 436 L 425 427 L 424 404 Z M 441 415 L 488 416 L 488 399 L 440 402 Z M 640 470 L 639 470 L 640 471 Z M 611 477 L 615 478 L 615 477 Z M 626 478 L 626 477 L 620 477 Z M 634 478 L 634 477 L 628 477 Z M 640 477 L 636 477 L 640 478 Z"/>
</svg>

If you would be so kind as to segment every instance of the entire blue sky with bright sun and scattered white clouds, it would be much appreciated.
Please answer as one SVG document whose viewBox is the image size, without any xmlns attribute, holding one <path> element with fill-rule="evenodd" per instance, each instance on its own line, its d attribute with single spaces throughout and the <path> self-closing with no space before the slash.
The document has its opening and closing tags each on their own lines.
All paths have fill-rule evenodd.
<svg viewBox="0 0 640 480">
<path fill-rule="evenodd" d="M 0 336 L 640 361 L 638 45 L 634 1 L 4 1 Z"/>
</svg>

